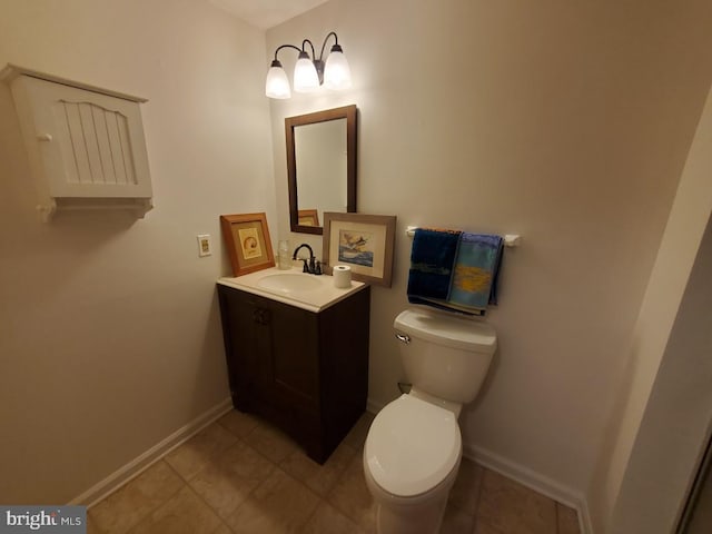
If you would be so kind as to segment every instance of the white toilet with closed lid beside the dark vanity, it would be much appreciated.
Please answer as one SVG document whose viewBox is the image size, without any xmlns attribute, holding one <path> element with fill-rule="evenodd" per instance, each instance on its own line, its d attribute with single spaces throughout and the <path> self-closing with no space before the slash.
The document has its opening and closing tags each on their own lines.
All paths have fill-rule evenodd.
<svg viewBox="0 0 712 534">
<path fill-rule="evenodd" d="M 364 446 L 379 534 L 439 531 L 462 457 L 457 417 L 485 379 L 494 328 L 454 314 L 407 309 L 394 322 L 408 394 L 376 415 Z"/>
</svg>

